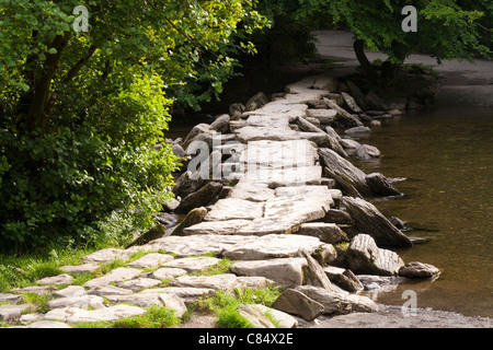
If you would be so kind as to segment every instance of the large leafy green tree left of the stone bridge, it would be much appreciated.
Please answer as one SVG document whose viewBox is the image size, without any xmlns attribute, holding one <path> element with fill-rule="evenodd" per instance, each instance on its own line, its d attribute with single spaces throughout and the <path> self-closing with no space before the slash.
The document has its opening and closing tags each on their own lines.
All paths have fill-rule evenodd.
<svg viewBox="0 0 493 350">
<path fill-rule="evenodd" d="M 153 148 L 176 97 L 165 93 L 198 69 L 220 91 L 231 35 L 265 24 L 254 1 L 0 5 L 2 247 L 125 240 L 149 228 L 175 166 L 169 147 Z M 74 31 L 85 20 L 78 5 L 88 32 Z"/>
</svg>

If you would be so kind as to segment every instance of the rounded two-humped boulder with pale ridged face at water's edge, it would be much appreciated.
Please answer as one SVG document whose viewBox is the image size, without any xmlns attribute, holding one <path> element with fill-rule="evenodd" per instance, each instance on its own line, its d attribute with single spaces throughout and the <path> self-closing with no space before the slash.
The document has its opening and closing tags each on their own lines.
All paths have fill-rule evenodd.
<svg viewBox="0 0 493 350">
<path fill-rule="evenodd" d="M 358 234 L 351 240 L 346 257 L 355 273 L 391 276 L 404 265 L 398 254 L 379 248 L 368 234 Z"/>
</svg>

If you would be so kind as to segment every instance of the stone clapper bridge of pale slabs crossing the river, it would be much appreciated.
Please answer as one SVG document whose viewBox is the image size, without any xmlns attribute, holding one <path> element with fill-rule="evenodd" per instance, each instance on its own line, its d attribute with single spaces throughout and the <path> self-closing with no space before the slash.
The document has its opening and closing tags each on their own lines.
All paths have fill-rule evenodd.
<svg viewBox="0 0 493 350">
<path fill-rule="evenodd" d="M 298 319 L 293 315 L 312 320 L 322 314 L 378 311 L 369 298 L 358 295 L 364 276 L 435 276 L 438 270 L 433 266 L 405 266 L 394 252 L 385 248 L 411 247 L 412 243 L 364 196 L 399 191 L 381 174 L 366 175 L 347 161 L 331 125 L 358 130 L 363 122 L 351 113 L 354 110 L 347 112 L 341 101 L 332 100 L 341 97 L 334 93 L 336 86 L 333 78 L 308 77 L 288 85 L 285 94 L 271 102 L 261 94 L 246 104 L 250 110 L 195 127 L 182 143 L 185 149 L 197 140 L 209 142 L 219 133 L 222 142 L 211 153 L 241 150 L 233 163 L 219 164 L 241 170 L 229 174 L 237 184 L 223 186 L 228 180 L 204 182 L 184 173 L 173 191 L 183 197 L 176 212 L 187 215 L 171 235 L 138 240 L 140 245 L 126 249 L 95 252 L 84 257 L 82 265 L 61 267 L 67 273 L 39 284 L 71 284 L 70 275 L 93 271 L 100 264 L 126 259 L 137 252 L 173 255 L 150 253 L 83 285 L 59 291 L 42 285 L 13 290 L 53 293 L 47 313 L 25 314 L 21 322 L 31 323 L 27 327 L 61 327 L 116 320 L 144 314 L 151 305 L 174 308 L 182 316 L 187 304 L 216 290 L 232 292 L 273 283 L 285 288 L 273 308 L 242 305 L 239 312 L 255 327 L 273 327 L 262 314 L 266 310 L 282 327 L 296 327 Z M 354 107 L 356 103 L 349 97 L 344 95 Z M 206 166 L 205 173 L 209 173 L 210 165 Z M 204 174 L 204 168 L 198 172 Z M 213 195 L 204 197 L 205 188 Z M 210 196 L 216 197 L 213 205 Z M 197 257 L 206 254 L 215 257 Z M 232 260 L 228 273 L 190 275 L 218 264 L 218 257 Z M 154 270 L 145 272 L 144 268 Z M 3 298 L 16 303 L 20 298 L 15 295 Z M 102 303 L 103 296 L 110 305 Z M 20 311 L 14 306 L 28 307 L 12 305 L 10 314 L 3 312 L 4 319 L 19 319 Z"/>
</svg>

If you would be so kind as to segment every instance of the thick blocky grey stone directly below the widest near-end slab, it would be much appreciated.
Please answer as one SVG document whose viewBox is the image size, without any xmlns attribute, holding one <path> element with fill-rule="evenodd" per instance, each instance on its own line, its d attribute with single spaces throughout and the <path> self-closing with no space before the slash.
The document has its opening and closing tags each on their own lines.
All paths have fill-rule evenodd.
<svg viewBox="0 0 493 350">
<path fill-rule="evenodd" d="M 231 265 L 230 270 L 240 276 L 262 276 L 283 287 L 300 285 L 303 281 L 303 258 L 246 260 Z"/>
</svg>

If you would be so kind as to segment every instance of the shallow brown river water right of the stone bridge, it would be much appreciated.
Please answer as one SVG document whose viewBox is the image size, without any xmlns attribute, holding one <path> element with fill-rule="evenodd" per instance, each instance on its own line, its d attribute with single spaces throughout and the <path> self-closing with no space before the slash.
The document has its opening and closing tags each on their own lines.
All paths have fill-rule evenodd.
<svg viewBox="0 0 493 350">
<path fill-rule="evenodd" d="M 382 158 L 356 164 L 406 178 L 395 185 L 404 196 L 375 205 L 403 220 L 408 235 L 431 240 L 398 253 L 443 271 L 433 282 L 401 284 L 374 299 L 402 305 L 402 292 L 414 290 L 417 307 L 493 317 L 493 110 L 428 109 L 372 130 L 359 141 Z"/>
</svg>

